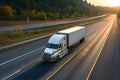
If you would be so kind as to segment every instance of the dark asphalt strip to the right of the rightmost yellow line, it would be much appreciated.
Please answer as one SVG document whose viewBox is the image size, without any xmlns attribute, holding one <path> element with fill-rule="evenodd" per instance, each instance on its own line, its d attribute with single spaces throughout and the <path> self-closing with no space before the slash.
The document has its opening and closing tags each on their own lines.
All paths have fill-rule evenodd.
<svg viewBox="0 0 120 80">
<path fill-rule="evenodd" d="M 120 80 L 120 27 L 117 19 L 89 80 Z"/>
</svg>

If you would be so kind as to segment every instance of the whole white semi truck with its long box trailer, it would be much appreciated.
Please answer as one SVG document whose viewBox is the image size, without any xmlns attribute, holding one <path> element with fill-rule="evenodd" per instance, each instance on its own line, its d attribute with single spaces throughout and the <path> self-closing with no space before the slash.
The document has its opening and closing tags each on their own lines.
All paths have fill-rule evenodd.
<svg viewBox="0 0 120 80">
<path fill-rule="evenodd" d="M 68 52 L 71 52 L 76 44 L 83 42 L 86 36 L 85 27 L 73 27 L 59 31 L 52 35 L 43 53 L 43 59 L 48 62 L 55 62 Z"/>
</svg>

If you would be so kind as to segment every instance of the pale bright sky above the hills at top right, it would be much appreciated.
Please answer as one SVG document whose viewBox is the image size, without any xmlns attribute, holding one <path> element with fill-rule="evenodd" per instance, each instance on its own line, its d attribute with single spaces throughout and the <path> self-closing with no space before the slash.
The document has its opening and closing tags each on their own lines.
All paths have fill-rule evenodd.
<svg viewBox="0 0 120 80">
<path fill-rule="evenodd" d="M 87 0 L 97 6 L 120 6 L 120 0 Z"/>
</svg>

